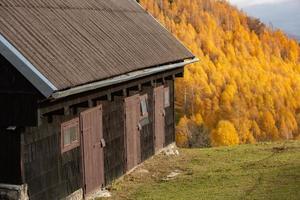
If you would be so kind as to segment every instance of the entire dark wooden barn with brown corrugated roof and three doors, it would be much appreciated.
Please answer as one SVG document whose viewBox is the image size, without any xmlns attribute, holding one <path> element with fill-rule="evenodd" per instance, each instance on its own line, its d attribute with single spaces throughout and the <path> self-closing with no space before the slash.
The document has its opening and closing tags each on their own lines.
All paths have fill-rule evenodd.
<svg viewBox="0 0 300 200">
<path fill-rule="evenodd" d="M 173 143 L 197 59 L 135 0 L 0 0 L 0 199 L 81 199 Z"/>
</svg>

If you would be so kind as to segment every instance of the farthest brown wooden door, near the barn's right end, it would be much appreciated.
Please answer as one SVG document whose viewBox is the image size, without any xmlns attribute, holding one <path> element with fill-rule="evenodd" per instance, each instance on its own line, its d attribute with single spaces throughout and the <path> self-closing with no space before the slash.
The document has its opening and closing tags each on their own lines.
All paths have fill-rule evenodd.
<svg viewBox="0 0 300 200">
<path fill-rule="evenodd" d="M 154 132 L 155 152 L 164 147 L 165 143 L 165 109 L 164 109 L 164 87 L 154 88 Z"/>
</svg>

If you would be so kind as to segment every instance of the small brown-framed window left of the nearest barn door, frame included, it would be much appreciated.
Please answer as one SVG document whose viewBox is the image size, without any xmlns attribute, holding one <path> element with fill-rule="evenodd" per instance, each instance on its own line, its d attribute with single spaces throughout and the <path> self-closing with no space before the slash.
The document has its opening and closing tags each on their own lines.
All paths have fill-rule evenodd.
<svg viewBox="0 0 300 200">
<path fill-rule="evenodd" d="M 61 152 L 70 151 L 79 145 L 79 118 L 63 123 L 61 125 Z"/>
</svg>

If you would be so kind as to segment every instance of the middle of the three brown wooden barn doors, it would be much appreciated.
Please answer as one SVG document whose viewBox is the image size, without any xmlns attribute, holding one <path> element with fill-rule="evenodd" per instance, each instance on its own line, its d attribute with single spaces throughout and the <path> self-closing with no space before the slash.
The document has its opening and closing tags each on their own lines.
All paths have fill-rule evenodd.
<svg viewBox="0 0 300 200">
<path fill-rule="evenodd" d="M 127 171 L 141 162 L 141 141 L 138 124 L 140 120 L 140 98 L 139 95 L 125 99 L 126 113 L 126 155 Z"/>
</svg>

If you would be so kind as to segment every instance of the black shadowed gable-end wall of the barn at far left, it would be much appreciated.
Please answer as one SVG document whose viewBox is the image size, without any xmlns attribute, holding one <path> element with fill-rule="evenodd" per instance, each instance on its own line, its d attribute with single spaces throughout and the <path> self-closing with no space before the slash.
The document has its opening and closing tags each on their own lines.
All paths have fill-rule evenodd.
<svg viewBox="0 0 300 200">
<path fill-rule="evenodd" d="M 40 96 L 0 54 L 0 199 L 28 198 L 23 157 L 24 132 L 26 127 L 37 123 L 37 100 Z"/>
</svg>

